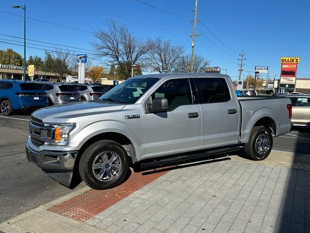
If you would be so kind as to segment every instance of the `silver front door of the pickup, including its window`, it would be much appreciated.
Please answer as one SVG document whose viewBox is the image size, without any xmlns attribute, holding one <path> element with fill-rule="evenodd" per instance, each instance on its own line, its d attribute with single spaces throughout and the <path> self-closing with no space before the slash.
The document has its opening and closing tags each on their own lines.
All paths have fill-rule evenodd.
<svg viewBox="0 0 310 233">
<path fill-rule="evenodd" d="M 145 158 L 199 150 L 201 110 L 199 104 L 193 104 L 189 80 L 166 81 L 149 98 L 156 97 L 167 98 L 169 110 L 143 114 Z"/>
</svg>

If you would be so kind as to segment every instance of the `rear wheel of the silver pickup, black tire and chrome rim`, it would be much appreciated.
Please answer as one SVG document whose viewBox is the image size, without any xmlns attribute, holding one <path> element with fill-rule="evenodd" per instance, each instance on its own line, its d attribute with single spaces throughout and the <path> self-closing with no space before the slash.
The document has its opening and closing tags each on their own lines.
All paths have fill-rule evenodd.
<svg viewBox="0 0 310 233">
<path fill-rule="evenodd" d="M 271 152 L 273 144 L 272 134 L 263 126 L 254 126 L 244 151 L 251 160 L 264 160 Z"/>
</svg>

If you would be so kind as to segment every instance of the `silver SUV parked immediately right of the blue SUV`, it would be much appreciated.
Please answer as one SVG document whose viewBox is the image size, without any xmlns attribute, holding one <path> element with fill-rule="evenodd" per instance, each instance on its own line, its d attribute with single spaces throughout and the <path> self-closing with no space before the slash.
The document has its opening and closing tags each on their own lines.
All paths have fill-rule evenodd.
<svg viewBox="0 0 310 233">
<path fill-rule="evenodd" d="M 47 92 L 49 106 L 80 101 L 80 94 L 74 85 L 51 82 L 38 83 Z"/>
</svg>

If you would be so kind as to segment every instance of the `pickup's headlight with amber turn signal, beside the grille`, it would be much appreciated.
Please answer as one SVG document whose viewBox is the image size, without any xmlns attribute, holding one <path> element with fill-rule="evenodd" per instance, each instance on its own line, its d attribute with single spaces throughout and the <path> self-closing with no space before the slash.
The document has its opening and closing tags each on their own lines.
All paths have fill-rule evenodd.
<svg viewBox="0 0 310 233">
<path fill-rule="evenodd" d="M 63 123 L 63 124 L 44 124 L 46 127 L 53 128 L 53 140 L 52 142 L 45 142 L 47 146 L 65 146 L 68 144 L 69 133 L 76 127 L 75 123 Z"/>
</svg>

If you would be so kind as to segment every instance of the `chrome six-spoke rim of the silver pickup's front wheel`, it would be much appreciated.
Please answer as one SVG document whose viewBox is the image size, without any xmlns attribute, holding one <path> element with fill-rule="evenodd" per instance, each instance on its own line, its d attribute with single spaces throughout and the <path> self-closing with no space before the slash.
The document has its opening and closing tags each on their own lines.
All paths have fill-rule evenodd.
<svg viewBox="0 0 310 233">
<path fill-rule="evenodd" d="M 93 160 L 93 175 L 99 181 L 111 181 L 121 171 L 122 161 L 120 156 L 113 151 L 104 151 Z"/>
</svg>

